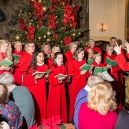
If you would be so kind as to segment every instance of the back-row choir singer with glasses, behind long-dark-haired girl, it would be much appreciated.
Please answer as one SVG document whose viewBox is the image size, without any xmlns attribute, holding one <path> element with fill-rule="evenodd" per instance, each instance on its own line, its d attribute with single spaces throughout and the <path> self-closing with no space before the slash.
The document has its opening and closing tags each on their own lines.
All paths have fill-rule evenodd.
<svg viewBox="0 0 129 129">
<path fill-rule="evenodd" d="M 27 69 L 32 60 L 34 51 L 35 51 L 35 44 L 33 42 L 26 43 L 25 52 L 20 57 L 20 60 L 19 60 L 19 69 L 22 72 L 22 85 L 24 85 L 24 78 L 26 76 Z"/>
</svg>

